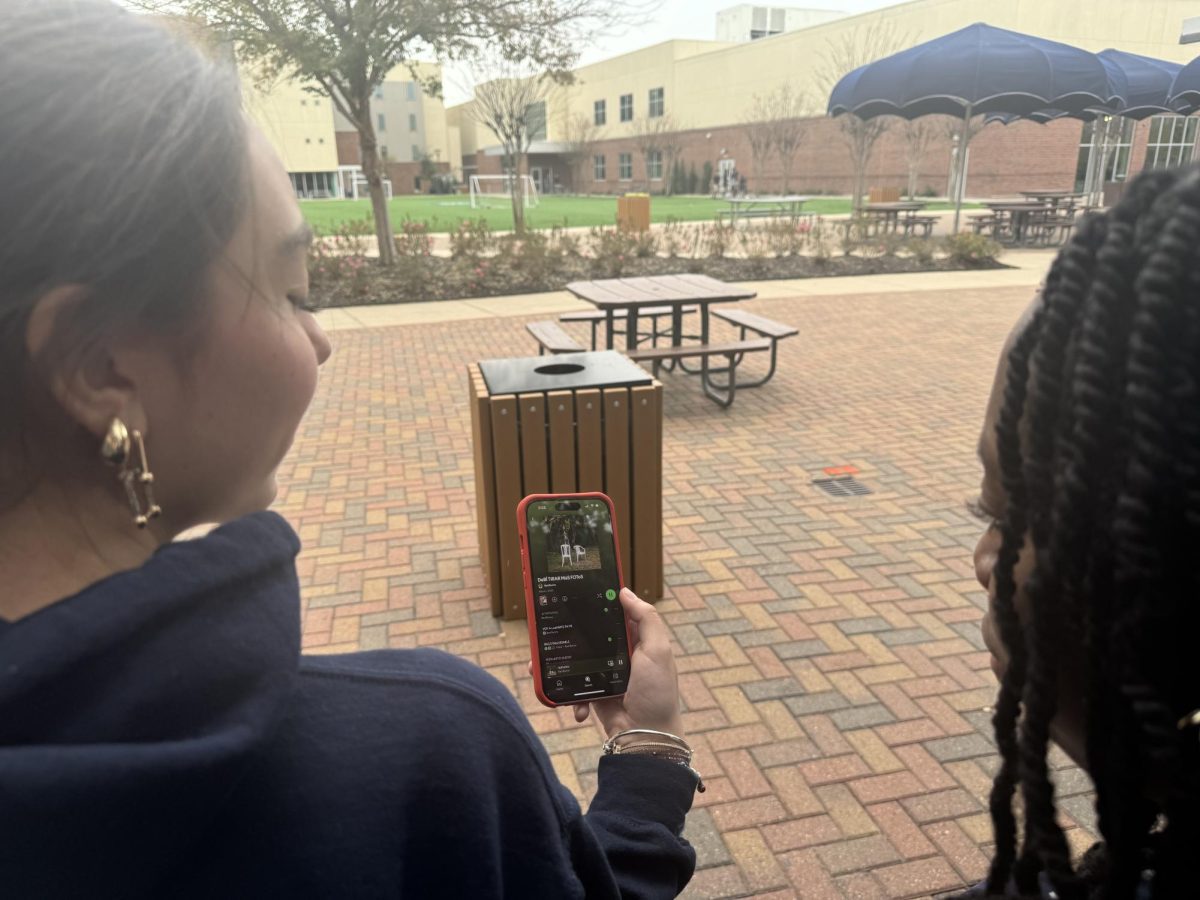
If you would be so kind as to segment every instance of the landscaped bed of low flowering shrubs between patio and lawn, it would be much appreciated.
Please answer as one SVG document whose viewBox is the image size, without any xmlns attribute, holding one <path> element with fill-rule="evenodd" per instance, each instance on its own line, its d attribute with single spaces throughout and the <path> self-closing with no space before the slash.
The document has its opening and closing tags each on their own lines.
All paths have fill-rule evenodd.
<svg viewBox="0 0 1200 900">
<path fill-rule="evenodd" d="M 448 256 L 433 253 L 426 226 L 396 236 L 390 269 L 366 256 L 361 227 L 343 227 L 310 257 L 311 298 L 325 307 L 403 304 L 560 290 L 571 281 L 695 272 L 721 281 L 1002 268 L 1000 246 L 973 234 L 942 240 L 862 238 L 845 222 L 769 222 L 742 228 L 671 223 L 631 234 L 552 229 L 524 238 L 464 222 Z"/>
</svg>

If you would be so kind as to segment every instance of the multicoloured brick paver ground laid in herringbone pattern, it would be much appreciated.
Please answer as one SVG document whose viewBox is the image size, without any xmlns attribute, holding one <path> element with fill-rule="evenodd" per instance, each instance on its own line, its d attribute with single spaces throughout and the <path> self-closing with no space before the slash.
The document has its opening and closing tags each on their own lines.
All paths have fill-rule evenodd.
<svg viewBox="0 0 1200 900">
<path fill-rule="evenodd" d="M 994 678 L 972 576 L 974 444 L 1027 289 L 761 300 L 799 326 L 728 412 L 665 376 L 659 608 L 679 654 L 698 796 L 689 898 L 923 896 L 978 880 Z M 440 647 L 512 689 L 587 802 L 599 736 L 542 708 L 527 632 L 492 618 L 466 360 L 530 348 L 523 319 L 342 331 L 278 508 L 305 551 L 311 652 Z M 874 493 L 810 482 L 852 464 Z M 1087 780 L 1055 755 L 1086 845 Z"/>
</svg>

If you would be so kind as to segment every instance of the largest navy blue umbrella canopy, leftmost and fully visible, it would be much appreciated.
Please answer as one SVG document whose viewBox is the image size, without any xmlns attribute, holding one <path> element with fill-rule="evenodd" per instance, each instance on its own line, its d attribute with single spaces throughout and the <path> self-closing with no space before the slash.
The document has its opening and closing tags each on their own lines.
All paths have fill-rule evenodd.
<svg viewBox="0 0 1200 900">
<path fill-rule="evenodd" d="M 856 68 L 834 88 L 829 114 L 1076 113 L 1111 101 L 1094 54 L 978 23 Z"/>
</svg>

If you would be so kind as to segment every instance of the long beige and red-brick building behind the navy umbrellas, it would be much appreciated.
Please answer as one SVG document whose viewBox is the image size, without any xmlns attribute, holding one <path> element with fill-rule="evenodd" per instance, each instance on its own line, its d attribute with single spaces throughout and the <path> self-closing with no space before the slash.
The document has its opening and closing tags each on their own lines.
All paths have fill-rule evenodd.
<svg viewBox="0 0 1200 900">
<path fill-rule="evenodd" d="M 802 120 L 803 139 L 786 187 L 846 193 L 852 180 L 850 161 L 839 125 L 823 115 L 824 96 L 816 89 L 833 43 L 883 23 L 904 36 L 904 46 L 912 46 L 986 20 L 1093 52 L 1115 47 L 1184 62 L 1195 55 L 1194 48 L 1178 43 L 1189 11 L 1195 11 L 1195 4 L 1187 0 L 914 0 L 863 16 L 802 24 L 761 40 L 748 35 L 737 42 L 668 41 L 582 66 L 575 84 L 553 90 L 545 101 L 545 139 L 533 148 L 526 170 L 542 190 L 658 192 L 671 181 L 673 155 L 685 174 L 697 173 L 696 181 L 702 180 L 707 163 L 715 173 L 736 169 L 752 192 L 781 191 L 779 160 L 755 160 L 745 122 L 755 96 L 786 84 L 805 96 L 811 110 Z M 464 174 L 500 174 L 497 140 L 472 121 L 468 107 L 448 110 L 448 120 L 461 127 L 462 169 Z M 648 142 L 638 136 L 653 130 L 654 119 L 670 122 L 671 137 L 658 142 L 666 151 L 646 152 Z M 576 144 L 574 154 L 554 152 L 570 144 L 570 134 L 578 134 L 581 120 L 590 121 L 594 132 L 586 146 Z M 899 120 L 894 121 L 896 126 L 876 146 L 869 168 L 871 185 L 908 184 L 906 142 Z M 953 143 L 942 125 L 948 120 L 929 121 L 935 137 L 918 166 L 917 186 L 924 193 L 946 194 Z M 1147 166 L 1189 161 L 1196 128 L 1198 120 L 1180 116 L 1128 122 L 1110 179 L 1121 181 Z M 584 164 L 572 164 L 581 149 Z M 1091 152 L 1091 126 L 1078 121 L 989 125 L 971 144 L 966 190 L 973 197 L 998 197 L 1031 187 L 1076 188 Z M 703 185 L 700 190 L 707 192 Z"/>
</svg>

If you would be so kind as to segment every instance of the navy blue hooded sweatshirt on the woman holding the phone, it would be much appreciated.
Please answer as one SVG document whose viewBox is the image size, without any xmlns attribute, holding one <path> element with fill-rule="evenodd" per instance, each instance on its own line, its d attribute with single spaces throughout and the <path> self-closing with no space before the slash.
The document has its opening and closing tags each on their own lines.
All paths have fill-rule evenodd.
<svg viewBox="0 0 1200 900">
<path fill-rule="evenodd" d="M 260 512 L 0 623 L 0 894 L 683 889 L 686 769 L 602 758 L 582 815 L 480 668 L 302 656 L 298 551 Z"/>
</svg>

